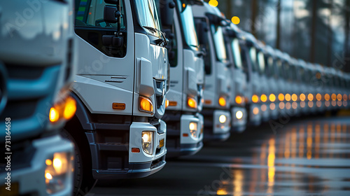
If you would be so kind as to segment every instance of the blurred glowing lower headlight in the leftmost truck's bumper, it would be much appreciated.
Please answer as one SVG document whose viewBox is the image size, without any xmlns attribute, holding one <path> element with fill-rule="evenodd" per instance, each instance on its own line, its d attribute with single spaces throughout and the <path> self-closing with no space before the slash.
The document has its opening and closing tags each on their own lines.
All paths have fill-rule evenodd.
<svg viewBox="0 0 350 196">
<path fill-rule="evenodd" d="M 73 157 L 70 153 L 54 153 L 45 160 L 45 184 L 48 194 L 57 193 L 66 188 L 67 176 L 71 172 Z"/>
</svg>

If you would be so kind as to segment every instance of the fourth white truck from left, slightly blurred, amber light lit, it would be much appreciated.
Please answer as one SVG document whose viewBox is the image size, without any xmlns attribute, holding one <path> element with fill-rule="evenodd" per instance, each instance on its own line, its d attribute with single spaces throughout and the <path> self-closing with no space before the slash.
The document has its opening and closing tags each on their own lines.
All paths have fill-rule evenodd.
<svg viewBox="0 0 350 196">
<path fill-rule="evenodd" d="M 225 140 L 230 137 L 230 95 L 232 75 L 223 37 L 223 27 L 228 25 L 220 10 L 204 3 L 194 5 L 193 15 L 204 57 L 205 85 L 203 93 L 204 141 Z"/>
</svg>

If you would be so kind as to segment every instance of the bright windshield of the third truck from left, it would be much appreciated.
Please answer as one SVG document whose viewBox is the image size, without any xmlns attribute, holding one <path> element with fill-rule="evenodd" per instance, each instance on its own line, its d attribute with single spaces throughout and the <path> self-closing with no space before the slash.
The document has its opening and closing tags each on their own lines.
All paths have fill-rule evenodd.
<svg viewBox="0 0 350 196">
<path fill-rule="evenodd" d="M 181 23 L 183 25 L 183 34 L 185 34 L 186 43 L 194 50 L 198 50 L 198 38 L 195 30 L 195 22 L 193 21 L 193 13 L 191 5 L 188 5 L 186 1 L 181 0 L 178 2 Z"/>
</svg>

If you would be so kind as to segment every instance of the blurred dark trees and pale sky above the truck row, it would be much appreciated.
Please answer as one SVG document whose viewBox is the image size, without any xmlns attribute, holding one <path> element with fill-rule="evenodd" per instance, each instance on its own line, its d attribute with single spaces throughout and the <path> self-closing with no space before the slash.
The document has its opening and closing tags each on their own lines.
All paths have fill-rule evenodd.
<svg viewBox="0 0 350 196">
<path fill-rule="evenodd" d="M 350 0 L 218 0 L 218 8 L 274 48 L 350 72 Z"/>
</svg>

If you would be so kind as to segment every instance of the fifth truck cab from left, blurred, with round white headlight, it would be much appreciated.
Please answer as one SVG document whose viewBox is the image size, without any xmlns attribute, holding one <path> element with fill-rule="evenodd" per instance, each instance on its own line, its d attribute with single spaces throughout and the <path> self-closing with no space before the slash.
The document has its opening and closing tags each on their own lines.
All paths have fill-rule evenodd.
<svg viewBox="0 0 350 196">
<path fill-rule="evenodd" d="M 231 23 L 225 28 L 225 43 L 228 50 L 228 57 L 232 69 L 232 94 L 231 94 L 231 115 L 232 131 L 243 132 L 246 130 L 248 113 L 246 112 L 246 97 L 248 91 L 248 73 L 241 59 L 241 48 L 239 38 L 241 38 L 240 29 Z"/>
</svg>

